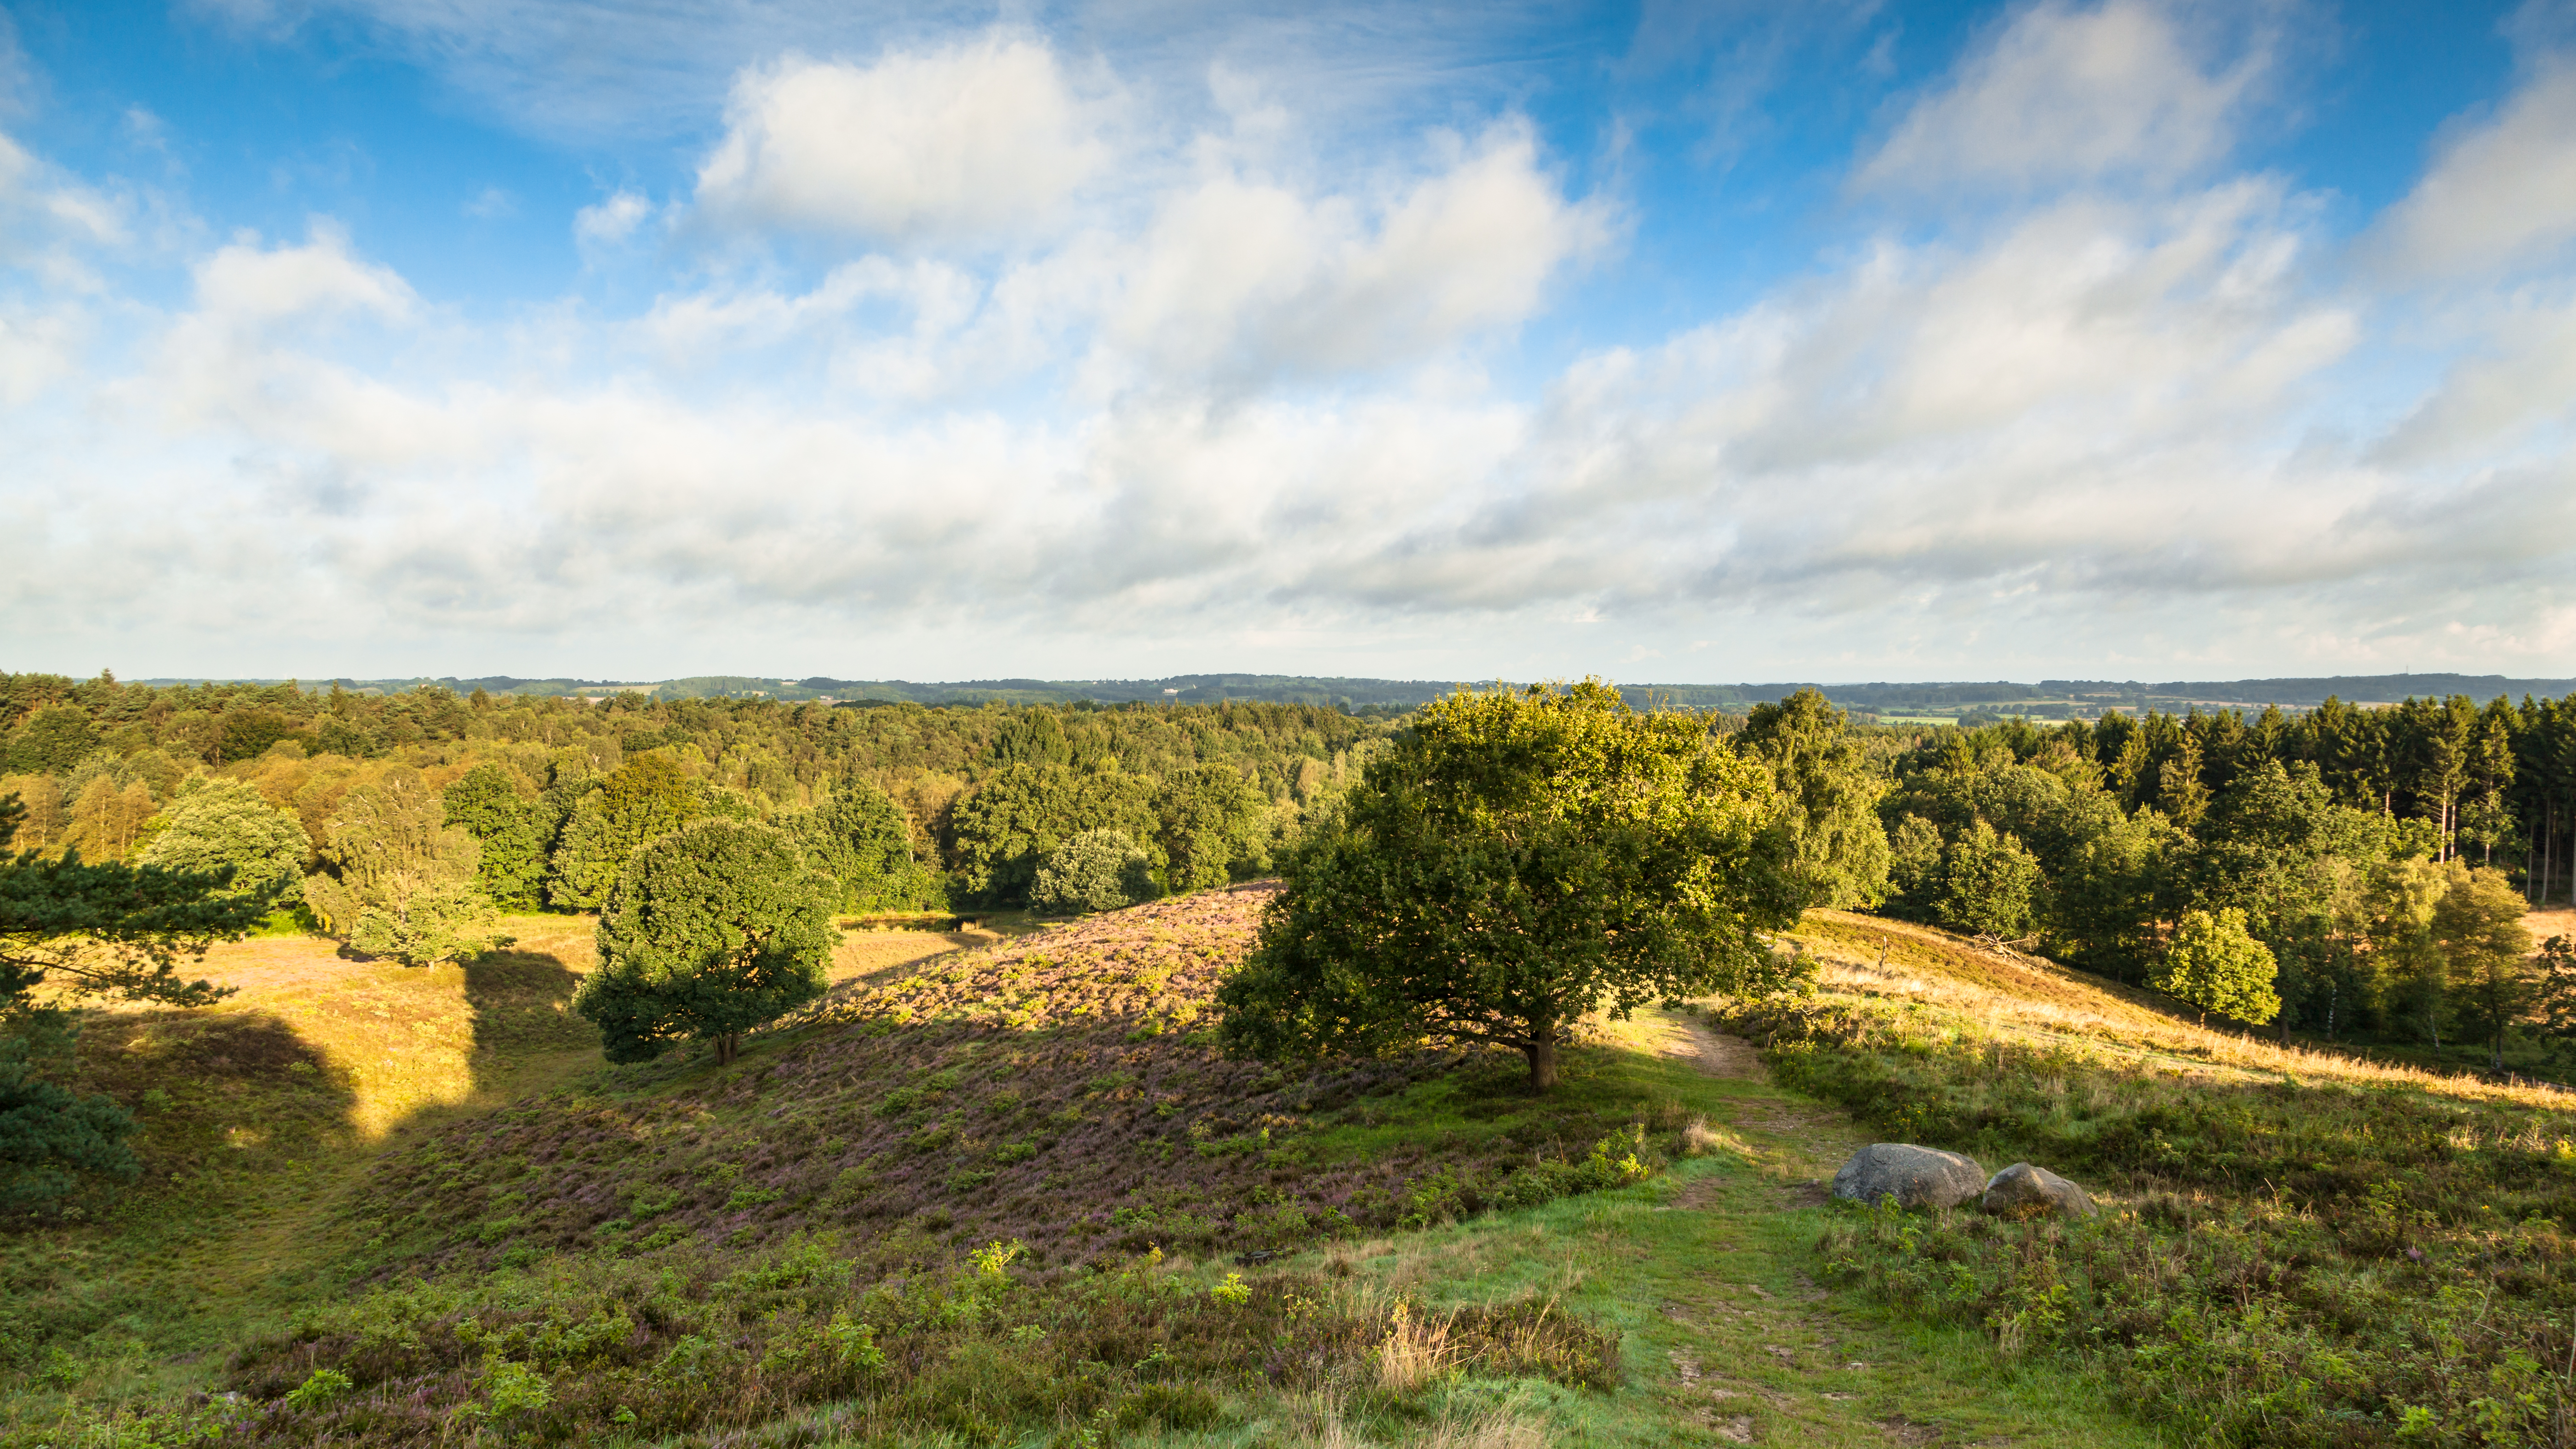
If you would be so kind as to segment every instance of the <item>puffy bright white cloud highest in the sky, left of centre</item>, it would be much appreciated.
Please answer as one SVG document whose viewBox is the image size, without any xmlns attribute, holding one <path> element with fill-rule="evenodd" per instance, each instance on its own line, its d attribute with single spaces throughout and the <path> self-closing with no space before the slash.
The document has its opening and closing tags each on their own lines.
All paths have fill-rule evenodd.
<svg viewBox="0 0 2576 1449">
<path fill-rule="evenodd" d="M 1056 54 L 1007 31 L 863 67 L 791 57 L 742 75 L 726 121 L 698 170 L 708 217 L 881 242 L 1025 235 L 1110 155 Z"/>
</svg>

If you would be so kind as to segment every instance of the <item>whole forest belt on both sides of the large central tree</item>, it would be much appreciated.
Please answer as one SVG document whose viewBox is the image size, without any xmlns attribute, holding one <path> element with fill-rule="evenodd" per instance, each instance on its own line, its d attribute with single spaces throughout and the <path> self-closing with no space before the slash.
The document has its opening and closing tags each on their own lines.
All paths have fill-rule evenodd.
<svg viewBox="0 0 2576 1449">
<path fill-rule="evenodd" d="M 2488 1042 L 2501 1060 L 2509 1034 L 2548 1026 L 2555 957 L 2535 975 L 2501 962 L 2494 931 L 2476 938 L 2506 897 L 2576 905 L 2566 699 L 1960 730 L 1855 724 L 1798 691 L 1700 719 L 1770 761 L 1811 905 L 2146 985 L 2205 923 L 2262 946 L 2277 1016 L 2200 1006 L 2285 1034 Z M 461 941 L 453 920 L 479 905 L 595 910 L 639 843 L 706 815 L 788 830 L 850 913 L 1097 910 L 1252 879 L 1332 820 L 1401 730 L 1311 704 L 580 701 L 23 673 L 0 676 L 0 797 L 23 807 L 21 851 L 170 866 L 265 851 L 237 890 L 412 957 Z"/>
</svg>

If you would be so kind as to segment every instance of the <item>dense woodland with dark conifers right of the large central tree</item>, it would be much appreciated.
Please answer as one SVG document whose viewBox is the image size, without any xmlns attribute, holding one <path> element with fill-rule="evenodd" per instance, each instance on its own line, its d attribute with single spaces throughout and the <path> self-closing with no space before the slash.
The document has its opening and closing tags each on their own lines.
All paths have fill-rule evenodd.
<svg viewBox="0 0 2576 1449">
<path fill-rule="evenodd" d="M 1837 735 L 1814 696 L 1754 709 L 1752 732 Z M 1814 820 L 1834 817 L 1816 797 L 1839 792 L 1844 841 L 1808 856 L 1844 905 L 2148 985 L 2174 982 L 2184 936 L 2202 957 L 2241 936 L 2267 980 L 2202 1003 L 2272 1021 L 2241 1011 L 2269 995 L 2282 1029 L 2329 1036 L 2501 1052 L 2506 1029 L 2566 995 L 2519 915 L 2576 890 L 2571 701 L 2004 722 L 1914 735 L 1883 766 L 1870 755 L 1886 732 L 1868 735 L 1878 750 L 1847 745 L 1829 766 L 1808 745 L 1783 768 Z"/>
</svg>

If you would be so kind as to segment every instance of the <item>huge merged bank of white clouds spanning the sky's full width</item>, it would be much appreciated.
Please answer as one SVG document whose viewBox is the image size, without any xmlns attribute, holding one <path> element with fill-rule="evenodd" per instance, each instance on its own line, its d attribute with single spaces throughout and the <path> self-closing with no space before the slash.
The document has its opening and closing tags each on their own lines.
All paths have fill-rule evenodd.
<svg viewBox="0 0 2576 1449">
<path fill-rule="evenodd" d="M 914 676 L 961 642 L 948 670 L 1283 637 L 1432 639 L 1412 673 L 1708 639 L 1692 670 L 1798 676 L 2568 647 L 2563 286 L 2463 294 L 2478 348 L 2419 394 L 2349 387 L 2403 327 L 2339 281 L 2331 209 L 2223 175 L 2254 67 L 2164 10 L 2027 10 L 1860 170 L 1950 165 L 1991 209 L 1497 379 L 1623 224 L 1520 119 L 1332 170 L 1280 160 L 1296 98 L 1265 90 L 1229 111 L 1257 144 L 1131 137 L 1103 201 L 1097 111 L 1033 36 L 778 62 L 685 206 L 842 240 L 814 273 L 726 255 L 631 312 L 492 327 L 317 222 L 206 248 L 170 309 L 121 299 L 124 371 L 0 307 L 0 402 L 64 397 L 13 415 L 39 446 L 0 526 L 41 547 L 0 588 L 49 637 L 93 627 L 93 578 L 165 634 L 909 639 L 868 657 Z M 46 186 L 0 150 L 0 196 Z M 574 229 L 652 214 L 621 191 Z"/>
</svg>

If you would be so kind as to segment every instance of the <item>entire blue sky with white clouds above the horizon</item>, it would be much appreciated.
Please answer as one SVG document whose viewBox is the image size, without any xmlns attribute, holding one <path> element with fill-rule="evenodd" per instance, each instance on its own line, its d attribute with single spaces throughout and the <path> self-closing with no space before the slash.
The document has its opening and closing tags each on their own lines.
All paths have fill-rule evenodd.
<svg viewBox="0 0 2576 1449">
<path fill-rule="evenodd" d="M 0 0 L 0 668 L 2576 676 L 2576 3 Z"/>
</svg>

